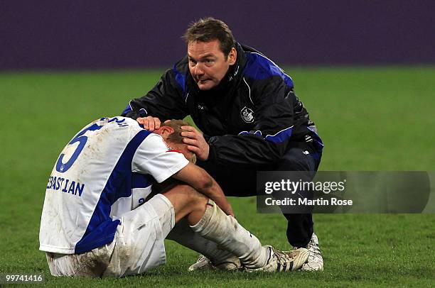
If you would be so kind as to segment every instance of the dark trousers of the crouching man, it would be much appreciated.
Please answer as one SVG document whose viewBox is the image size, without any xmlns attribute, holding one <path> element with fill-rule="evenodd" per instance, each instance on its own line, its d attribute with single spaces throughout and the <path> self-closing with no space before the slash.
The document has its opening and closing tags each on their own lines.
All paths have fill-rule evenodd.
<svg viewBox="0 0 435 288">
<path fill-rule="evenodd" d="M 311 145 L 297 143 L 286 151 L 279 163 L 257 170 L 315 172 L 320 160 L 321 154 L 316 153 Z M 197 164 L 216 179 L 226 196 L 257 196 L 257 170 L 211 165 L 202 161 L 198 161 Z M 315 173 L 306 175 L 310 175 L 307 177 L 312 179 Z M 302 179 L 302 181 L 311 181 L 311 179 Z M 306 247 L 313 234 L 312 214 L 284 214 L 284 216 L 288 221 L 286 234 L 289 243 L 294 247 Z"/>
</svg>

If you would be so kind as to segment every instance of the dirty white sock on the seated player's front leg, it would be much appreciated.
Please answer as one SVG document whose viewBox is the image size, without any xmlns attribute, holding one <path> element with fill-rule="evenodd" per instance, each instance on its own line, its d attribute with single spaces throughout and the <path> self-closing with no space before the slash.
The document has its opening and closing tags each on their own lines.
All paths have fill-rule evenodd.
<svg viewBox="0 0 435 288">
<path fill-rule="evenodd" d="M 257 268 L 266 264 L 267 249 L 234 217 L 227 216 L 213 200 L 208 200 L 203 217 L 190 227 L 200 236 L 239 257 L 245 267 Z"/>
</svg>

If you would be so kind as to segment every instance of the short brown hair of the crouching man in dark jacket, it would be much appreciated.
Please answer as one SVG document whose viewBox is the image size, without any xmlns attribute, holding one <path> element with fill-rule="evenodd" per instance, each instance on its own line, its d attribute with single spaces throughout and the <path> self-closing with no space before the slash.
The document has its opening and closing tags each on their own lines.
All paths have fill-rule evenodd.
<svg viewBox="0 0 435 288">
<path fill-rule="evenodd" d="M 218 39 L 220 50 L 224 53 L 225 58 L 232 48 L 235 48 L 235 39 L 227 24 L 218 19 L 208 17 L 202 18 L 191 23 L 183 35 L 186 44 L 192 41 L 209 42 Z"/>
</svg>

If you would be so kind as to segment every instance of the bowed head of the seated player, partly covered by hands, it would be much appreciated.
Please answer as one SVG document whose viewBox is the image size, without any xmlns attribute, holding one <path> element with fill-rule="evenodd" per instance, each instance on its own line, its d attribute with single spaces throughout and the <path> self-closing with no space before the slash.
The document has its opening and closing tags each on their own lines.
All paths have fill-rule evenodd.
<svg viewBox="0 0 435 288">
<path fill-rule="evenodd" d="M 187 160 L 195 163 L 195 154 L 188 150 L 187 144 L 183 143 L 185 137 L 181 136 L 181 126 L 190 126 L 190 124 L 183 120 L 170 120 L 163 123 L 159 129 L 154 130 L 154 133 L 161 135 L 171 148 L 183 153 Z"/>
</svg>

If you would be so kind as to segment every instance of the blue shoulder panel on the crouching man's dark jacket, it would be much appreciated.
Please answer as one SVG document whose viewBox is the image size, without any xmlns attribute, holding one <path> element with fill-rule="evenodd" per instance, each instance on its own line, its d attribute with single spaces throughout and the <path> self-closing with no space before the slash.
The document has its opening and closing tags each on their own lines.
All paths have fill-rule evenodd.
<svg viewBox="0 0 435 288">
<path fill-rule="evenodd" d="M 257 53 L 247 53 L 247 63 L 245 66 L 245 75 L 256 80 L 267 79 L 272 76 L 279 76 L 284 80 L 287 86 L 293 88 L 293 80 L 289 75 L 279 68 L 274 62 L 267 57 Z"/>
</svg>

